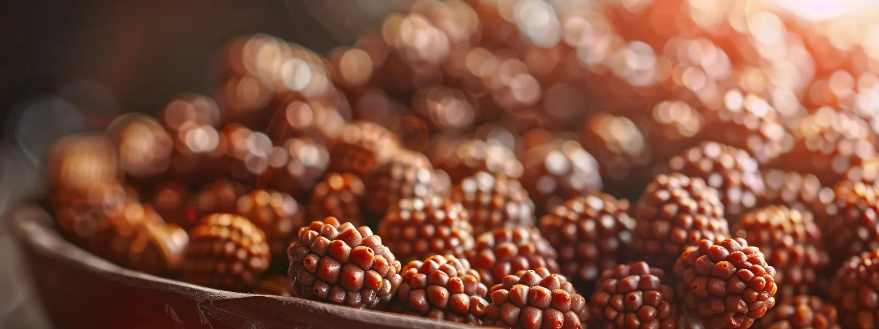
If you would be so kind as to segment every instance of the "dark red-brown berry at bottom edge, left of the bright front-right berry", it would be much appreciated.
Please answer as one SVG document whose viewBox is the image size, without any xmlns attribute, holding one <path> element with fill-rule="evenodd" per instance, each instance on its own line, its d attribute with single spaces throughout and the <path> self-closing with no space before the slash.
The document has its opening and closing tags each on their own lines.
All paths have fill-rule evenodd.
<svg viewBox="0 0 879 329">
<path fill-rule="evenodd" d="M 620 265 L 601 274 L 592 295 L 592 325 L 631 328 L 640 323 L 655 328 L 677 328 L 680 311 L 665 271 L 643 261 Z"/>
</svg>

